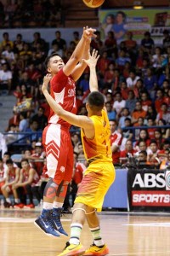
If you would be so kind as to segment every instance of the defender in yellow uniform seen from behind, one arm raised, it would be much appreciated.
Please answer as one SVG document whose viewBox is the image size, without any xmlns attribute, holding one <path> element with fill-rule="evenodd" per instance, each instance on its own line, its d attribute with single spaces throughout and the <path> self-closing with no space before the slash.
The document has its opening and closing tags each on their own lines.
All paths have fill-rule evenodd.
<svg viewBox="0 0 170 256">
<path fill-rule="evenodd" d="M 82 178 L 82 183 L 77 192 L 77 198 L 73 207 L 71 221 L 71 238 L 67 242 L 65 250 L 59 255 L 106 255 L 109 253 L 99 228 L 99 218 L 96 210 L 101 211 L 105 194 L 115 179 L 115 169 L 112 165 L 110 125 L 105 110 L 104 96 L 98 91 L 96 76 L 96 63 L 99 59 L 98 52 L 94 49 L 89 59 L 85 61 L 90 68 L 90 90 L 86 108 L 88 117 L 75 115 L 65 111 L 48 94 L 48 82 L 51 79 L 47 74 L 43 80 L 42 92 L 48 104 L 61 119 L 65 119 L 72 125 L 82 128 L 82 144 L 84 154 L 88 160 L 88 169 Z M 88 221 L 94 244 L 85 251 L 80 243 L 82 225 Z"/>
</svg>

